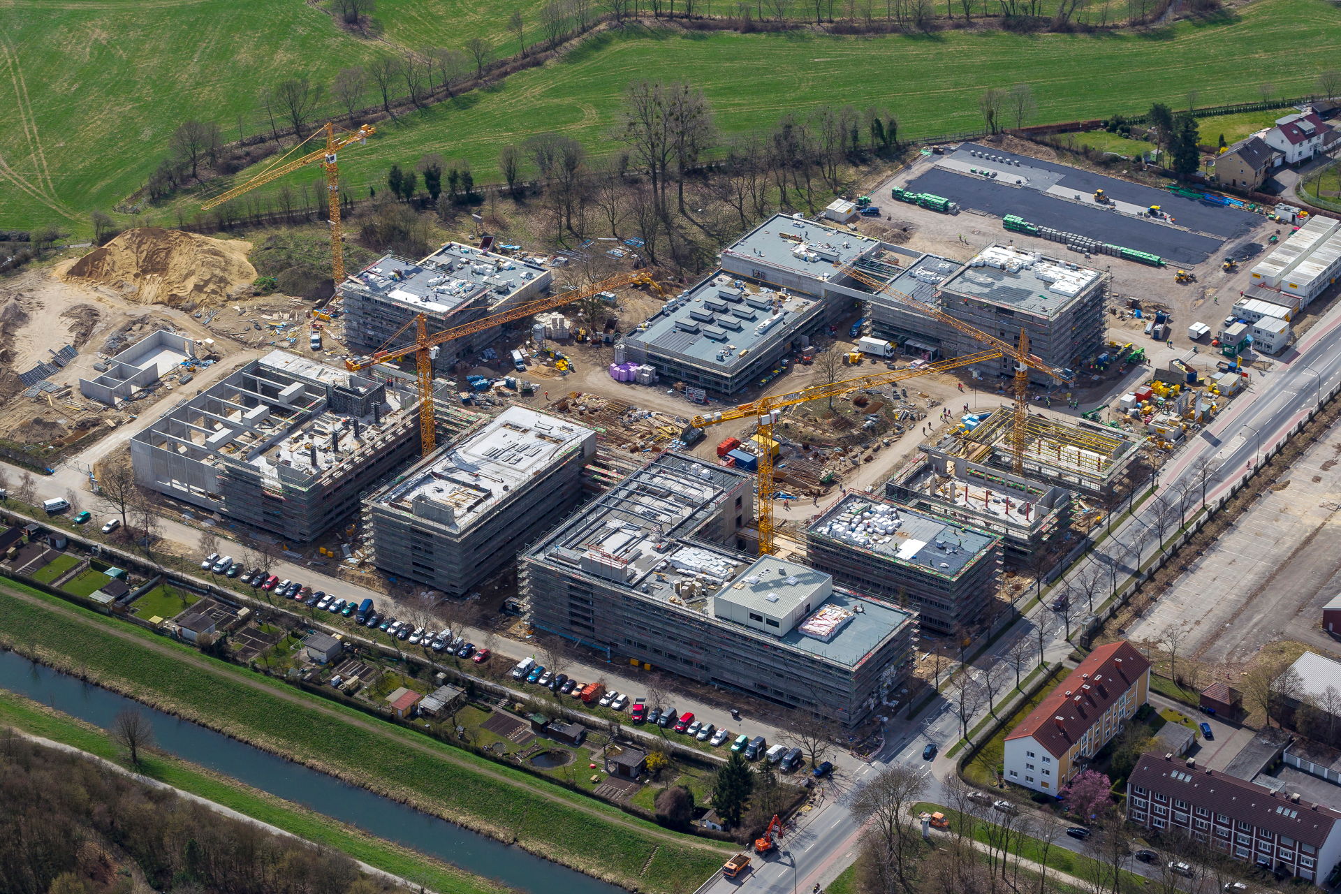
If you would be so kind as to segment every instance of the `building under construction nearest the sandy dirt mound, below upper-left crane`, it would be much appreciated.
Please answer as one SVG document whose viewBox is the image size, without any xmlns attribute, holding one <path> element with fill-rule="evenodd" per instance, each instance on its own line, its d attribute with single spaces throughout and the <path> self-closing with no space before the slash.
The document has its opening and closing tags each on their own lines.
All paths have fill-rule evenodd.
<svg viewBox="0 0 1341 894">
<path fill-rule="evenodd" d="M 538 300 L 552 273 L 535 263 L 448 243 L 421 261 L 385 255 L 339 284 L 345 343 L 371 354 L 417 315 L 429 334 L 464 326 L 489 314 Z M 409 342 L 404 334 L 392 347 Z M 448 359 L 488 344 L 498 328 L 483 330 L 443 346 Z"/>
</svg>

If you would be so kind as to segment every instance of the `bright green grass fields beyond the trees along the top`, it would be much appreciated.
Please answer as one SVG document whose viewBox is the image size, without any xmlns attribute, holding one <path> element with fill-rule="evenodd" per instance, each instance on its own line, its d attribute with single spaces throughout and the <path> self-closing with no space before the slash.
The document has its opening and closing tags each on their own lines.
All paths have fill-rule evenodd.
<svg viewBox="0 0 1341 894">
<path fill-rule="evenodd" d="M 506 12 L 512 3 L 488 8 Z M 243 115 L 243 130 L 252 133 L 260 127 L 260 84 L 292 74 L 325 83 L 342 66 L 389 51 L 296 3 L 158 0 L 137 4 L 134 15 L 123 9 L 56 0 L 13 0 L 0 9 L 7 35 L 0 103 L 17 111 L 0 134 L 7 178 L 0 227 L 80 229 L 91 209 L 110 209 L 145 182 L 180 119 L 212 118 L 232 138 Z M 378 17 L 388 35 L 412 46 L 459 44 L 473 28 L 496 35 L 503 19 L 439 16 L 409 0 L 389 0 Z M 342 155 L 341 172 L 351 193 L 366 194 L 370 184 L 385 182 L 392 164 L 436 151 L 468 159 L 483 182 L 493 178 L 500 146 L 546 130 L 609 153 L 617 147 L 610 134 L 624 87 L 649 75 L 701 86 L 727 135 L 767 127 L 784 110 L 848 102 L 889 106 L 904 135 L 968 130 L 980 125 L 983 84 L 996 82 L 1033 84 L 1037 121 L 1134 114 L 1155 101 L 1181 105 L 1192 82 L 1200 105 L 1255 99 L 1257 82 L 1244 78 L 1251 70 L 1270 68 L 1278 94 L 1298 95 L 1330 64 L 1338 25 L 1341 9 L 1326 0 L 1257 0 L 1218 21 L 1101 36 L 830 38 L 632 27 L 491 91 L 385 122 L 367 146 Z M 1286 55 L 1295 62 L 1277 64 Z M 212 184 L 209 192 L 221 188 Z"/>
</svg>

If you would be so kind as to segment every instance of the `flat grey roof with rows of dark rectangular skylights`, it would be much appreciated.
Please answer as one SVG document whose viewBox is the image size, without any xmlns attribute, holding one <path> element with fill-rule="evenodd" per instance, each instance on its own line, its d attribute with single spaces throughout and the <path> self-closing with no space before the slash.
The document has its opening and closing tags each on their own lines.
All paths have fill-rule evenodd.
<svg viewBox="0 0 1341 894">
<path fill-rule="evenodd" d="M 652 355 L 681 355 L 730 373 L 758 351 L 790 342 L 819 308 L 818 298 L 716 271 L 668 300 L 625 340 L 642 343 Z"/>
</svg>

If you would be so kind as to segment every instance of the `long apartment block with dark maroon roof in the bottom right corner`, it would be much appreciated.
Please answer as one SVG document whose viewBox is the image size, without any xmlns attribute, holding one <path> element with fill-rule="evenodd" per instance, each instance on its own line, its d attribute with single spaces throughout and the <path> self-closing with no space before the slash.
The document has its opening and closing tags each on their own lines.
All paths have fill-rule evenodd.
<svg viewBox="0 0 1341 894">
<path fill-rule="evenodd" d="M 1341 862 L 1341 812 L 1193 761 L 1141 755 L 1126 780 L 1126 819 L 1180 830 L 1244 863 L 1320 882 Z"/>
</svg>

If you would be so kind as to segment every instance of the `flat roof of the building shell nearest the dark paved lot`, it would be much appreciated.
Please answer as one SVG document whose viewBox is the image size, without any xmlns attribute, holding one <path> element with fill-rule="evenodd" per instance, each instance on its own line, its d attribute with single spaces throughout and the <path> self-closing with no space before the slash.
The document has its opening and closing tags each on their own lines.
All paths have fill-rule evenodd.
<svg viewBox="0 0 1341 894">
<path fill-rule="evenodd" d="M 1054 318 L 1094 288 L 1102 273 L 1014 245 L 988 245 L 945 280 L 943 288 L 966 298 Z"/>
</svg>

